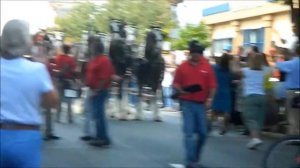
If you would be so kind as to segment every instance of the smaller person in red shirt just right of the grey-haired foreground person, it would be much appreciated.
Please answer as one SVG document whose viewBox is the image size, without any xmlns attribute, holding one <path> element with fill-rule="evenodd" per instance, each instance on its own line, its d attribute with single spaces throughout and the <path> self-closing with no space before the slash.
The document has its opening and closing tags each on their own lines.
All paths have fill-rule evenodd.
<svg viewBox="0 0 300 168">
<path fill-rule="evenodd" d="M 76 60 L 69 55 L 71 47 L 64 44 L 62 46 L 63 54 L 58 55 L 55 60 L 55 69 L 57 70 L 57 77 L 59 83 L 59 93 L 61 100 L 65 100 L 68 104 L 68 121 L 73 122 L 72 117 L 72 100 L 71 98 L 64 98 L 64 90 L 71 86 L 70 80 L 75 79 Z M 61 103 L 57 109 L 57 122 L 60 121 Z"/>
</svg>

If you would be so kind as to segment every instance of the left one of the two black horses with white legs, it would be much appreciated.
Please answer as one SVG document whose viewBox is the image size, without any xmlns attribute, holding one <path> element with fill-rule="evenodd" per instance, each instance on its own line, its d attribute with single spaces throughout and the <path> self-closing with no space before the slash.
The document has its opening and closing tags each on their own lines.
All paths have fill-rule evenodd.
<svg viewBox="0 0 300 168">
<path fill-rule="evenodd" d="M 122 77 L 122 80 L 114 83 L 114 88 L 117 88 L 117 104 L 120 120 L 126 120 L 128 111 L 128 87 L 130 77 L 132 75 L 133 66 L 133 43 L 127 40 L 128 33 L 126 32 L 126 23 L 118 20 L 111 20 L 110 31 L 111 40 L 109 46 L 109 57 L 115 68 L 116 75 Z M 111 114 L 115 117 L 115 113 Z"/>
</svg>

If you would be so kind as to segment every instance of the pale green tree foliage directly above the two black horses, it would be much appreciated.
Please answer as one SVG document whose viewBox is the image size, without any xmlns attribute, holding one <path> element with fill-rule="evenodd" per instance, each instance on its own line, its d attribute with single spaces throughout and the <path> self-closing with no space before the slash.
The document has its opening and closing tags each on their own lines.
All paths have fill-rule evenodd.
<svg viewBox="0 0 300 168">
<path fill-rule="evenodd" d="M 171 18 L 171 4 L 168 0 L 128 0 L 120 3 L 120 0 L 108 0 L 97 15 L 97 27 L 108 32 L 110 18 L 121 19 L 138 28 L 138 40 L 144 40 L 149 26 L 160 23 L 168 34 L 170 26 L 175 26 Z"/>
</svg>

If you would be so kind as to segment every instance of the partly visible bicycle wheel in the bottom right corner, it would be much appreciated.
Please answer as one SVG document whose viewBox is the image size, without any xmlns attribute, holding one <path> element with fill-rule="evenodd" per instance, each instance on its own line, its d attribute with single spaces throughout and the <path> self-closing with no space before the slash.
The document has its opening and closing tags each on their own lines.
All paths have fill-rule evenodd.
<svg viewBox="0 0 300 168">
<path fill-rule="evenodd" d="M 263 168 L 300 168 L 300 135 L 274 142 L 263 158 Z"/>
</svg>

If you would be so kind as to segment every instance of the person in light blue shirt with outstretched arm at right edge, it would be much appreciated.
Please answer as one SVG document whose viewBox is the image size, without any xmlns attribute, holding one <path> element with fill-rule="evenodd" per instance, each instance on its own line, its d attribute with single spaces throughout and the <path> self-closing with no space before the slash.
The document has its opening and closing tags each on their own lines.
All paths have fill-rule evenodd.
<svg viewBox="0 0 300 168">
<path fill-rule="evenodd" d="M 300 113 L 299 109 L 293 108 L 291 102 L 293 97 L 300 94 L 300 47 L 299 43 L 295 48 L 295 56 L 293 59 L 285 62 L 276 63 L 276 68 L 286 72 L 286 111 L 288 113 L 289 134 L 300 134 Z"/>
</svg>

